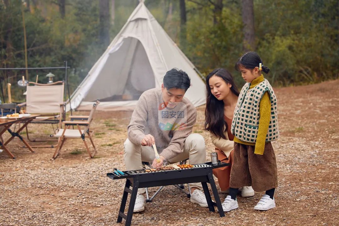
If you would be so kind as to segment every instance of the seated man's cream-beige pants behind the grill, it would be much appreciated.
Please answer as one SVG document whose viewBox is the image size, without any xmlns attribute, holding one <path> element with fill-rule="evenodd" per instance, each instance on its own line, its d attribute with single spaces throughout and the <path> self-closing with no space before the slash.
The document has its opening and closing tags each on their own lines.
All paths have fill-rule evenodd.
<svg viewBox="0 0 339 226">
<path fill-rule="evenodd" d="M 161 154 L 160 154 L 161 155 Z M 153 162 L 155 152 L 153 147 L 136 145 L 127 140 L 124 143 L 124 158 L 126 170 L 142 169 L 141 161 Z M 185 140 L 184 150 L 174 158 L 167 160 L 169 163 L 180 162 L 190 159 L 190 164 L 199 164 L 206 162 L 206 149 L 204 138 L 198 133 L 191 133 Z M 190 187 L 197 187 L 202 190 L 201 183 L 188 184 Z M 140 189 L 139 193 L 143 193 L 144 189 Z"/>
</svg>

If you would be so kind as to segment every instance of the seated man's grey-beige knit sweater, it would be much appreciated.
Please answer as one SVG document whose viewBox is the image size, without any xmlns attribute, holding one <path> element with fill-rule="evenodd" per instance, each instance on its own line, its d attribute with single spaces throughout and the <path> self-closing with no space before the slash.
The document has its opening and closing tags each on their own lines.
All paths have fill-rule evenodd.
<svg viewBox="0 0 339 226">
<path fill-rule="evenodd" d="M 181 115 L 178 112 L 185 112 L 185 114 Z M 149 89 L 140 96 L 133 111 L 131 122 L 127 126 L 128 139 L 140 145 L 144 136 L 151 134 L 155 139 L 159 155 L 169 160 L 183 151 L 184 142 L 192 133 L 196 118 L 196 108 L 185 97 L 174 109 L 167 109 L 164 108 L 161 89 Z M 173 126 L 175 128 L 163 127 L 166 125 L 167 127 L 175 125 Z"/>
</svg>

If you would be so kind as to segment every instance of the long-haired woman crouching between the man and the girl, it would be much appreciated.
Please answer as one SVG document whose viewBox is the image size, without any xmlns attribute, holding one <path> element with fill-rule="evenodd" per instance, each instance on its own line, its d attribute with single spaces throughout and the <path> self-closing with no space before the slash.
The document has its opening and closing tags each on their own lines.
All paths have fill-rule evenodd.
<svg viewBox="0 0 339 226">
<path fill-rule="evenodd" d="M 218 178 L 221 193 L 228 193 L 233 163 L 234 136 L 231 133 L 233 112 L 238 101 L 237 89 L 230 72 L 224 68 L 212 71 L 206 77 L 206 109 L 204 129 L 210 132 L 218 159 L 230 166 L 213 170 Z M 242 197 L 254 196 L 250 186 L 241 188 Z"/>
</svg>

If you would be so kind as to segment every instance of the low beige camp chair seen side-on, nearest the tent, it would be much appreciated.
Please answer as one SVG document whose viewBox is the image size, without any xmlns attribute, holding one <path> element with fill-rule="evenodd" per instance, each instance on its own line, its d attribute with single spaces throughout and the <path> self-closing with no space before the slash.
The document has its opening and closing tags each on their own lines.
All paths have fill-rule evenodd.
<svg viewBox="0 0 339 226">
<path fill-rule="evenodd" d="M 58 133 L 54 135 L 54 137 L 59 138 L 59 142 L 58 142 L 57 148 L 55 149 L 53 159 L 57 158 L 57 156 L 59 155 L 61 151 L 62 145 L 65 143 L 67 138 L 81 138 L 85 144 L 89 157 L 93 158 L 95 156 L 97 151 L 95 149 L 95 146 L 92 140 L 93 131 L 89 130 L 89 126 L 91 126 L 91 122 L 93 120 L 95 109 L 97 108 L 97 105 L 99 103 L 100 102 L 97 100 L 97 102 L 93 104 L 93 108 L 91 110 L 91 113 L 89 113 L 89 116 L 71 116 L 71 121 L 63 122 L 65 124 L 65 128 L 60 129 Z M 73 121 L 73 120 L 78 120 L 78 121 Z M 86 121 L 80 121 L 80 120 L 86 120 Z M 71 126 L 76 126 L 77 129 L 71 129 Z M 85 127 L 84 129 L 80 129 L 80 126 L 85 126 Z M 93 149 L 94 149 L 93 154 L 89 150 L 87 143 L 85 141 L 85 138 L 88 138 L 91 141 L 93 145 Z"/>
</svg>

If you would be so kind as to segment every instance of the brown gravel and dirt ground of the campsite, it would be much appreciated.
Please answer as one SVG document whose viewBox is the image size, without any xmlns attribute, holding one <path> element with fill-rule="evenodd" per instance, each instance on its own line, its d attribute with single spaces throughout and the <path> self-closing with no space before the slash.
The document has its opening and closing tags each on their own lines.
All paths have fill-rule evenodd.
<svg viewBox="0 0 339 226">
<path fill-rule="evenodd" d="M 220 218 L 167 186 L 145 211 L 134 214 L 132 225 L 339 225 L 338 86 L 335 80 L 276 89 L 281 131 L 273 143 L 279 181 L 276 208 L 255 211 L 262 195 L 256 193 L 239 197 L 239 208 Z M 31 153 L 12 141 L 8 147 L 17 158 L 0 153 L 0 225 L 122 225 L 116 219 L 124 180 L 105 175 L 113 167 L 124 169 L 123 142 L 130 116 L 124 111 L 96 113 L 94 159 L 88 159 L 81 140 L 67 140 L 56 160 L 51 160 L 54 149 Z M 193 131 L 205 137 L 208 160 L 214 147 L 202 131 L 203 121 L 204 106 L 198 108 Z M 33 137 L 51 133 L 47 125 L 29 128 Z M 225 194 L 220 197 L 223 201 Z"/>
</svg>

